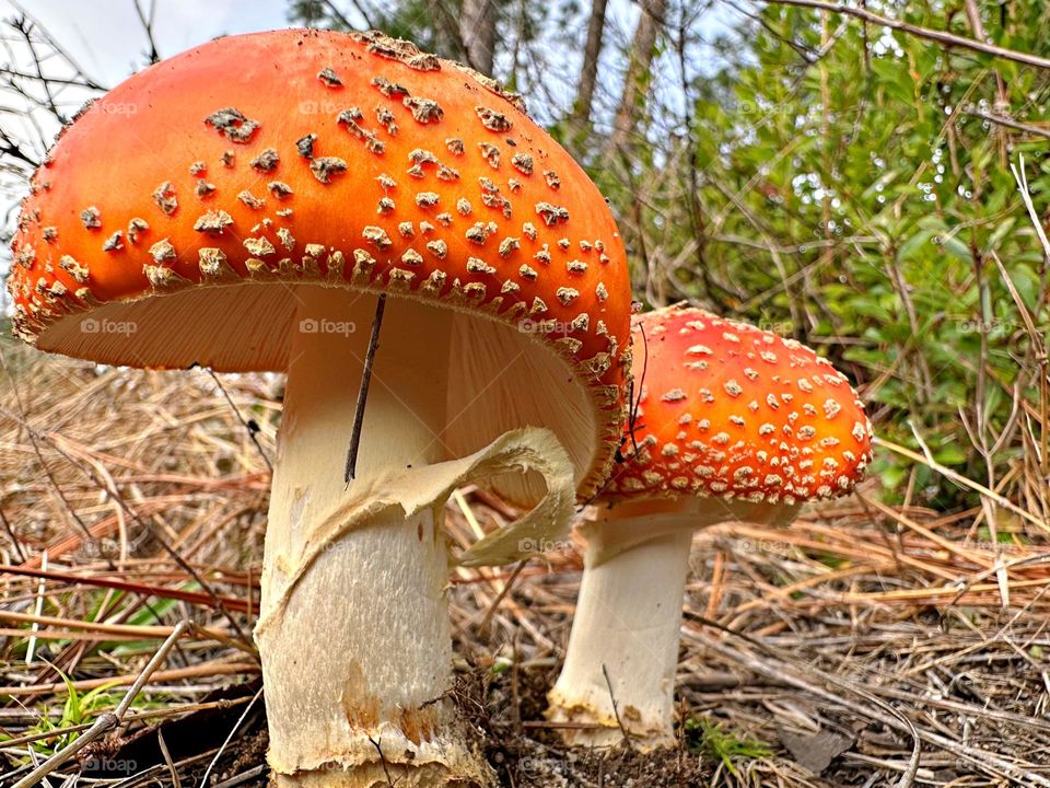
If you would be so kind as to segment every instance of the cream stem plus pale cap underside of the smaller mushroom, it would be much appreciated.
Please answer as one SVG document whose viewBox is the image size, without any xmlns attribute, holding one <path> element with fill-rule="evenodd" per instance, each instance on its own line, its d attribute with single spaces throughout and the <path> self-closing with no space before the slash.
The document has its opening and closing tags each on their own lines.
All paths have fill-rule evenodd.
<svg viewBox="0 0 1050 788">
<path fill-rule="evenodd" d="M 580 528 L 583 579 L 548 718 L 567 744 L 672 746 L 682 595 L 692 533 L 723 522 L 790 520 L 796 507 L 695 500 L 621 506 Z"/>
</svg>

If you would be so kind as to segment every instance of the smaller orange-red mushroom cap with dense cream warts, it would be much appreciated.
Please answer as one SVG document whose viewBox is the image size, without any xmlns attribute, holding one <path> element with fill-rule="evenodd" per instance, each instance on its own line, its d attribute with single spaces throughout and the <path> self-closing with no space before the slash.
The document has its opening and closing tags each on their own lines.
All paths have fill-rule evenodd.
<svg viewBox="0 0 1050 788">
<path fill-rule="evenodd" d="M 640 315 L 632 331 L 640 405 L 606 499 L 790 505 L 844 495 L 863 477 L 864 404 L 809 348 L 682 305 Z"/>
</svg>

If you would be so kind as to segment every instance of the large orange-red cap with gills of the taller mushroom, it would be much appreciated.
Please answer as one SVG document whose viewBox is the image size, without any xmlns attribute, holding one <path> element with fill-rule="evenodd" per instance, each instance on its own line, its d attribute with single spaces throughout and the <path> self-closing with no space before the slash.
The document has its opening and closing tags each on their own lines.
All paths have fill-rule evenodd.
<svg viewBox="0 0 1050 788">
<path fill-rule="evenodd" d="M 607 474 L 630 321 L 612 216 L 516 97 L 406 42 L 232 36 L 136 74 L 60 136 L 13 252 L 15 332 L 106 363 L 284 370 L 300 285 L 447 308 L 481 337 L 455 350 L 450 452 L 549 426 L 582 495 Z M 526 406 L 504 370 L 537 346 L 545 391 L 505 418 Z"/>
</svg>

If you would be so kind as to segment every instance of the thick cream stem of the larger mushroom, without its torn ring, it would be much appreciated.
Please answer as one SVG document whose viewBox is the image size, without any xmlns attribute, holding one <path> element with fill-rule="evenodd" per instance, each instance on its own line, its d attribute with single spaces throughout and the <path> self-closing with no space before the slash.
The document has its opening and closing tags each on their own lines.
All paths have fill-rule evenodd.
<svg viewBox="0 0 1050 788">
<path fill-rule="evenodd" d="M 348 301 L 374 299 L 317 287 L 298 296 L 256 630 L 277 784 L 485 785 L 442 699 L 452 686 L 442 507 L 322 528 L 348 495 L 369 338 Z M 450 323 L 412 310 L 387 304 L 351 486 L 441 455 Z"/>
</svg>

